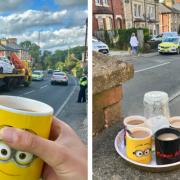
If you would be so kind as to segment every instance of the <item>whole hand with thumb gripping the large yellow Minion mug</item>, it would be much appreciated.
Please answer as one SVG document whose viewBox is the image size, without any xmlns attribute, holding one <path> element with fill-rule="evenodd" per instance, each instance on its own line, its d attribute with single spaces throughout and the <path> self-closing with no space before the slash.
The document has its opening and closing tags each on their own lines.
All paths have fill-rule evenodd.
<svg viewBox="0 0 180 180">
<path fill-rule="evenodd" d="M 44 180 L 86 180 L 87 148 L 74 130 L 53 118 L 50 140 L 12 127 L 2 128 L 0 138 L 12 148 L 40 157 Z"/>
</svg>

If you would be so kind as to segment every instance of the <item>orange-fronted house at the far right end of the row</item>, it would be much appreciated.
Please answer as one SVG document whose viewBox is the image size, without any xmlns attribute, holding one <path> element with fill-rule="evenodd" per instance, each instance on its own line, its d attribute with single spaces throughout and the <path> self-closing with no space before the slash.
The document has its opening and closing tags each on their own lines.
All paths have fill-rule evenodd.
<svg viewBox="0 0 180 180">
<path fill-rule="evenodd" d="M 160 32 L 180 31 L 180 0 L 165 0 L 160 5 Z"/>
</svg>

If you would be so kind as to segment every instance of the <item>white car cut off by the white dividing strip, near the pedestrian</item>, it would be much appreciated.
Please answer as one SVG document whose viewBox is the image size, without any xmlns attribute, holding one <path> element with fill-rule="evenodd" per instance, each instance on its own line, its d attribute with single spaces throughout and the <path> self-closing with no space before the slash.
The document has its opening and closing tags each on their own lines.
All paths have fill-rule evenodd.
<svg viewBox="0 0 180 180">
<path fill-rule="evenodd" d="M 92 39 L 92 49 L 93 49 L 93 51 L 101 52 L 103 54 L 109 53 L 108 45 L 103 43 L 102 41 L 95 39 L 95 38 Z"/>
</svg>

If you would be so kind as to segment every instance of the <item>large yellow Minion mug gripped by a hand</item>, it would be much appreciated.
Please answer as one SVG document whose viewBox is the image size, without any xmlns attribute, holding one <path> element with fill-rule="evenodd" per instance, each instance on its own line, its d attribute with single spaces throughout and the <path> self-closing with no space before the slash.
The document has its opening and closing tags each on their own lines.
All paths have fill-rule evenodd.
<svg viewBox="0 0 180 180">
<path fill-rule="evenodd" d="M 20 128 L 47 139 L 52 117 L 53 108 L 47 104 L 23 97 L 0 96 L 0 128 Z M 43 161 L 38 157 L 0 141 L 1 180 L 39 180 L 42 167 Z"/>
</svg>

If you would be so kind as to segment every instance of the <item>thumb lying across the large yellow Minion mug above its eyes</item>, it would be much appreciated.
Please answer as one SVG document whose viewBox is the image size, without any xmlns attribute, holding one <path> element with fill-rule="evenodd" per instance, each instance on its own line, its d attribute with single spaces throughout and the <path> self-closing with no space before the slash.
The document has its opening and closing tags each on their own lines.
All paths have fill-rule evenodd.
<svg viewBox="0 0 180 180">
<path fill-rule="evenodd" d="M 21 129 L 2 128 L 0 130 L 0 139 L 12 148 L 38 156 L 51 167 L 63 163 L 65 157 L 67 157 L 67 149 L 64 146 Z"/>
</svg>

